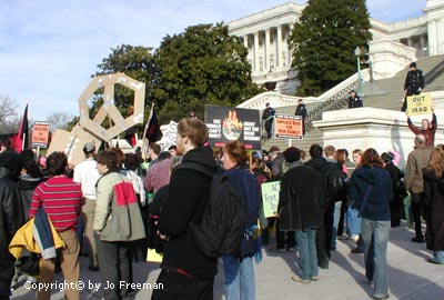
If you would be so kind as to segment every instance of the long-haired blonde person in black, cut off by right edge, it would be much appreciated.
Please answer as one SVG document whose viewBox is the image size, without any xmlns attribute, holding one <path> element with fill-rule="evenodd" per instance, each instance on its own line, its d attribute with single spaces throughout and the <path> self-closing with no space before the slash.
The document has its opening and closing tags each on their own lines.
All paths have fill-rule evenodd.
<svg viewBox="0 0 444 300">
<path fill-rule="evenodd" d="M 444 263 L 444 151 L 435 148 L 428 166 L 423 171 L 424 202 L 427 218 L 425 240 L 427 250 L 433 251 L 430 263 Z"/>
</svg>

